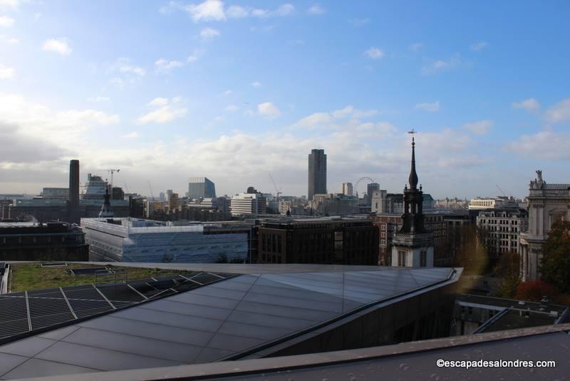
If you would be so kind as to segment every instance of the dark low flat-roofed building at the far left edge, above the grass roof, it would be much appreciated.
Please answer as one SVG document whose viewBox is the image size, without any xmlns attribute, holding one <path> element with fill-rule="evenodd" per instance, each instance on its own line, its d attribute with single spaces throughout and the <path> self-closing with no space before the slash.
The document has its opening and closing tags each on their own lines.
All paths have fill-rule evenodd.
<svg viewBox="0 0 570 381">
<path fill-rule="evenodd" d="M 0 223 L 0 260 L 88 260 L 80 228 L 66 223 Z"/>
</svg>

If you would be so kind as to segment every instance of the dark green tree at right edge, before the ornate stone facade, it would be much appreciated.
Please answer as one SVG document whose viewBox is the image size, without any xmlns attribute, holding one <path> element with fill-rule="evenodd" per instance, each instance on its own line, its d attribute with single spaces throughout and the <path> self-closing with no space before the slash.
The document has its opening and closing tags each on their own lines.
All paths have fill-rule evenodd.
<svg viewBox="0 0 570 381">
<path fill-rule="evenodd" d="M 570 221 L 552 224 L 543 252 L 541 278 L 562 293 L 570 293 Z"/>
</svg>

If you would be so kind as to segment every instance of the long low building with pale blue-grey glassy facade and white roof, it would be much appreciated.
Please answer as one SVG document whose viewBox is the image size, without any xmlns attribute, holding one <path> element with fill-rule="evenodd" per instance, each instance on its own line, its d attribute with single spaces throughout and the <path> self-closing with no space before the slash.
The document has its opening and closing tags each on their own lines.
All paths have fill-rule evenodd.
<svg viewBox="0 0 570 381">
<path fill-rule="evenodd" d="M 90 260 L 215 263 L 247 260 L 251 226 L 243 223 L 175 225 L 137 218 L 82 218 Z"/>
</svg>

